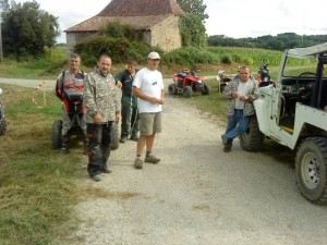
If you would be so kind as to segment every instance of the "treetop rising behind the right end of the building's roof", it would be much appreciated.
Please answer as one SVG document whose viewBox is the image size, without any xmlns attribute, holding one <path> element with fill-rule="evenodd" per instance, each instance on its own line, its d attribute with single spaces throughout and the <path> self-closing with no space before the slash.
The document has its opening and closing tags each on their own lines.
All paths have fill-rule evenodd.
<svg viewBox="0 0 327 245">
<path fill-rule="evenodd" d="M 198 16 L 203 23 L 209 17 L 205 13 L 207 5 L 203 3 L 203 0 L 177 0 L 175 2 L 185 13 Z"/>
</svg>

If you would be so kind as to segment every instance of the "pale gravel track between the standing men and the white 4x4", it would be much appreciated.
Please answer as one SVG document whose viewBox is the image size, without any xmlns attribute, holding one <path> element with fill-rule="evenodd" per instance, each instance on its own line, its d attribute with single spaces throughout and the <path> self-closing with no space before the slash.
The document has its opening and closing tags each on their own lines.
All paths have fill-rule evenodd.
<svg viewBox="0 0 327 245">
<path fill-rule="evenodd" d="M 327 207 L 300 195 L 294 169 L 239 144 L 225 154 L 222 131 L 218 120 L 168 96 L 158 164 L 135 170 L 136 143 L 129 140 L 111 154 L 113 172 L 94 182 L 83 158 L 81 188 L 89 194 L 75 207 L 81 223 L 65 243 L 327 244 Z"/>
</svg>

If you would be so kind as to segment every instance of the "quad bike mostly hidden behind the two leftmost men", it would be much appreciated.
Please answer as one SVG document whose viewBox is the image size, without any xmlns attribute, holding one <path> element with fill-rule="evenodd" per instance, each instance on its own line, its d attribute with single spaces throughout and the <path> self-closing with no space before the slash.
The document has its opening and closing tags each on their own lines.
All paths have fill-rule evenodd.
<svg viewBox="0 0 327 245">
<path fill-rule="evenodd" d="M 83 117 L 82 99 L 73 102 L 74 113 L 70 114 L 71 121 L 73 122 L 73 126 L 69 131 L 70 138 L 77 137 L 81 140 L 84 139 L 84 134 L 77 123 L 77 117 L 80 117 L 80 119 Z M 52 148 L 55 149 L 59 149 L 62 146 L 61 130 L 62 130 L 62 120 L 56 120 L 52 124 Z M 114 150 L 118 149 L 118 147 L 119 147 L 119 124 L 112 123 L 110 149 Z"/>
</svg>

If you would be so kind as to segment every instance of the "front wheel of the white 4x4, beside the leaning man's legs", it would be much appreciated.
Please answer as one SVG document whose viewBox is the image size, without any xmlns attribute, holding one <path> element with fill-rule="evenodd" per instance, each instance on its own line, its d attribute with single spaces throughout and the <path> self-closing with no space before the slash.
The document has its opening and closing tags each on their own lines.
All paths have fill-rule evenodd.
<svg viewBox="0 0 327 245">
<path fill-rule="evenodd" d="M 240 135 L 240 143 L 244 150 L 258 151 L 263 148 L 265 135 L 259 131 L 255 115 L 250 117 L 246 132 Z"/>
</svg>

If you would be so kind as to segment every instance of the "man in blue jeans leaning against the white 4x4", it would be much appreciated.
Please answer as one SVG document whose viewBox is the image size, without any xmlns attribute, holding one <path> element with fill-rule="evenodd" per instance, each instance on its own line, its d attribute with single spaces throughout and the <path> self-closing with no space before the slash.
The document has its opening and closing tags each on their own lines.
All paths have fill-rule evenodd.
<svg viewBox="0 0 327 245">
<path fill-rule="evenodd" d="M 249 66 L 241 66 L 239 75 L 223 89 L 227 97 L 227 128 L 221 135 L 223 151 L 229 152 L 232 142 L 239 135 L 245 133 L 249 125 L 249 117 L 254 114 L 253 101 L 258 97 L 257 82 L 251 76 Z"/>
</svg>

